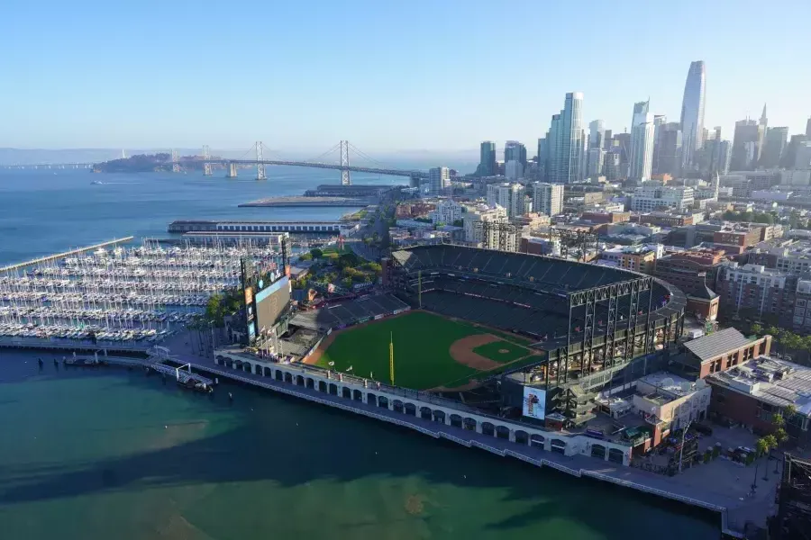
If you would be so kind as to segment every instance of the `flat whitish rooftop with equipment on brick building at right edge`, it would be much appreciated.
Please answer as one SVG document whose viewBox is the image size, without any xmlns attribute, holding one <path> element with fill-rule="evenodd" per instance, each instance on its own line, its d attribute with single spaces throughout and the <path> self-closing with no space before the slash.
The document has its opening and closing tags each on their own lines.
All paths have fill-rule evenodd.
<svg viewBox="0 0 811 540">
<path fill-rule="evenodd" d="M 794 405 L 798 413 L 811 417 L 811 368 L 805 365 L 760 356 L 708 378 L 777 407 Z"/>
</svg>

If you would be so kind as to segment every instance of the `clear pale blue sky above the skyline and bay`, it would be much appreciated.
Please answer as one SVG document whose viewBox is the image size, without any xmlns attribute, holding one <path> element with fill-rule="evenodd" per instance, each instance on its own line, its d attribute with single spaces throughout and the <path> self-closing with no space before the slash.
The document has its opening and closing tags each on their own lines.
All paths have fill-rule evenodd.
<svg viewBox="0 0 811 540">
<path fill-rule="evenodd" d="M 0 147 L 478 148 L 536 139 L 566 92 L 622 131 L 679 121 L 691 60 L 706 122 L 805 130 L 808 0 L 8 1 Z"/>
</svg>

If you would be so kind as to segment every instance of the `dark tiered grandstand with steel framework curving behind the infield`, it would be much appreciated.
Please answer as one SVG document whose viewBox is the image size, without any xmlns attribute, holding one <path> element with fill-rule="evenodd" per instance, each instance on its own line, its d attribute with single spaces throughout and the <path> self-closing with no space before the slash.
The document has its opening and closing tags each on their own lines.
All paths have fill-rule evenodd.
<svg viewBox="0 0 811 540">
<path fill-rule="evenodd" d="M 423 304 L 426 293 L 451 291 L 461 296 L 458 302 L 478 297 L 520 306 L 515 311 L 527 314 L 522 328 L 511 326 L 508 316 L 477 322 L 532 337 L 533 347 L 546 354 L 499 376 L 540 376 L 560 411 L 576 422 L 585 420 L 581 413 L 593 392 L 634 359 L 674 344 L 683 328 L 684 293 L 632 271 L 449 244 L 395 251 L 387 266 L 394 291 L 412 303 Z M 441 298 L 451 306 L 459 296 Z"/>
</svg>

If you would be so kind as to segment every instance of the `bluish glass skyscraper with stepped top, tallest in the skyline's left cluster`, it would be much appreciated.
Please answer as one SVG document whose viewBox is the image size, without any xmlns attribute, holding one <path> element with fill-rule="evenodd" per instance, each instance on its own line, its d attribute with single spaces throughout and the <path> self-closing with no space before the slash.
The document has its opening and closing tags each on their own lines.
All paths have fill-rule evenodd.
<svg viewBox="0 0 811 540">
<path fill-rule="evenodd" d="M 572 184 L 583 177 L 583 94 L 570 92 L 560 114 L 552 116 L 549 131 L 551 175 L 556 184 Z M 553 152 L 553 153 L 552 153 Z"/>
</svg>

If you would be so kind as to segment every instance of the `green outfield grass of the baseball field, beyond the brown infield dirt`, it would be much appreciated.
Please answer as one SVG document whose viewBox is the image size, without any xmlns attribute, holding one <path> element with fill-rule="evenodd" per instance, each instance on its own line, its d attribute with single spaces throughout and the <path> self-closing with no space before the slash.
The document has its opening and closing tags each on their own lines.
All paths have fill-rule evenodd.
<svg viewBox="0 0 811 540">
<path fill-rule="evenodd" d="M 318 365 L 388 383 L 389 335 L 394 339 L 395 384 L 415 390 L 441 386 L 478 372 L 451 358 L 450 347 L 457 339 L 486 333 L 472 325 L 444 319 L 432 313 L 413 311 L 357 329 L 343 331 L 324 352 Z M 516 347 L 516 346 L 512 346 Z"/>
</svg>

